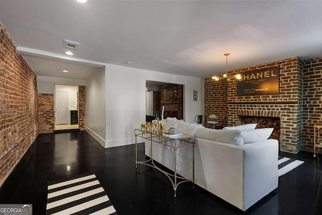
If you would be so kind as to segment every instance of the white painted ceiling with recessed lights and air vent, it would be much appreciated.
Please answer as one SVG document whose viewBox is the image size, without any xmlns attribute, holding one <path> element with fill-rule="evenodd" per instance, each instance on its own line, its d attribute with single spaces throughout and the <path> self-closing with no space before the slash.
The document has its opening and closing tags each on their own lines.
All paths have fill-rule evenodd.
<svg viewBox="0 0 322 215">
<path fill-rule="evenodd" d="M 80 43 L 71 59 L 200 78 L 224 73 L 226 52 L 228 70 L 322 56 L 321 20 L 322 1 L 0 0 L 0 22 L 18 47 L 63 58 L 67 39 Z M 66 60 L 28 55 L 36 75 L 67 76 Z M 76 64 L 69 78 L 98 69 Z"/>
</svg>

